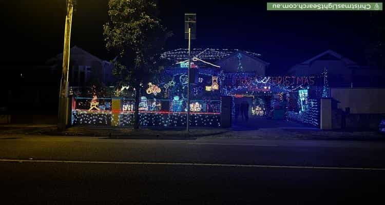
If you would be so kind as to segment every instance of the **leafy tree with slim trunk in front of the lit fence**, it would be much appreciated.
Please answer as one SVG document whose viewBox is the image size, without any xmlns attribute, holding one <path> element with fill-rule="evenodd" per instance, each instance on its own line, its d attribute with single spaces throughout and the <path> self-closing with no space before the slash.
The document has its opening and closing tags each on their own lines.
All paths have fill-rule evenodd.
<svg viewBox="0 0 385 205">
<path fill-rule="evenodd" d="M 108 7 L 106 48 L 117 55 L 112 63 L 118 86 L 128 84 L 135 90 L 134 129 L 138 129 L 141 87 L 161 72 L 160 54 L 171 33 L 161 25 L 154 0 L 109 0 Z"/>
</svg>

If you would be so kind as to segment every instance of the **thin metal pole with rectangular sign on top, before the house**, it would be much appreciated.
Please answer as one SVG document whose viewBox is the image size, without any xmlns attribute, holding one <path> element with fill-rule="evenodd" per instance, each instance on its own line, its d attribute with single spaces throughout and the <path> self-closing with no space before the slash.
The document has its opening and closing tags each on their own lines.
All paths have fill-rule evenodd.
<svg viewBox="0 0 385 205">
<path fill-rule="evenodd" d="M 190 69 L 191 69 L 191 39 L 197 39 L 197 14 L 184 14 L 184 36 L 188 39 L 188 68 L 187 68 L 187 100 L 186 100 L 186 131 L 189 132 L 190 127 Z"/>
</svg>

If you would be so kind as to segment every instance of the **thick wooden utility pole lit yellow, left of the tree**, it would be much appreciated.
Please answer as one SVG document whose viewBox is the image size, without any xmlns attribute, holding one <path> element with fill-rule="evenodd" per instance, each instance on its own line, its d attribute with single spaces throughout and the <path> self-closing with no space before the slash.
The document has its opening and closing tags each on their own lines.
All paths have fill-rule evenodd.
<svg viewBox="0 0 385 205">
<path fill-rule="evenodd" d="M 64 131 L 68 123 L 68 68 L 69 68 L 69 51 L 71 39 L 73 0 L 67 0 L 67 16 L 66 26 L 64 30 L 64 51 L 63 51 L 63 72 L 60 80 L 60 94 L 59 94 L 59 112 L 57 129 Z"/>
</svg>

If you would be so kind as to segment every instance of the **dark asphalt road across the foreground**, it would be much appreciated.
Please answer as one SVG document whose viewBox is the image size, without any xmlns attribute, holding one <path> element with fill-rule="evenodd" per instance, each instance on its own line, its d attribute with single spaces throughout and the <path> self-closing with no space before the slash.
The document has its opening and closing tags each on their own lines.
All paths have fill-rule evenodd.
<svg viewBox="0 0 385 205">
<path fill-rule="evenodd" d="M 384 141 L 0 136 L 0 181 L 4 204 L 374 203 L 384 156 Z"/>
</svg>

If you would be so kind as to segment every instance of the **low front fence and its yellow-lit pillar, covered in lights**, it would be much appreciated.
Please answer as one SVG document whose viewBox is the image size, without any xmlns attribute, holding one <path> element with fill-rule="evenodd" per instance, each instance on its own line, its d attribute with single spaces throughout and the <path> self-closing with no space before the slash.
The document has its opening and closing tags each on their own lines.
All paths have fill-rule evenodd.
<svg viewBox="0 0 385 205">
<path fill-rule="evenodd" d="M 127 98 L 72 98 L 72 125 L 132 126 L 134 123 L 134 99 Z M 191 100 L 190 126 L 220 127 L 220 100 Z M 172 100 L 141 97 L 139 121 L 141 126 L 186 126 L 186 101 L 178 97 Z"/>
</svg>

